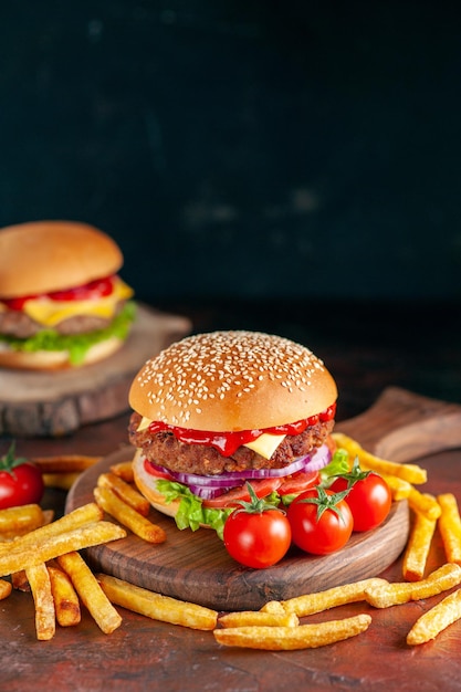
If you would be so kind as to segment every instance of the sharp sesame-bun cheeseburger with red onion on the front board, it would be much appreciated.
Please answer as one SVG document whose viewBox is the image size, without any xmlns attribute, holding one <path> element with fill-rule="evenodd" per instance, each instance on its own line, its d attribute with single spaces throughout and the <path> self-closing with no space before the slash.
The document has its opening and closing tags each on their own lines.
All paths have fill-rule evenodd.
<svg viewBox="0 0 461 692">
<path fill-rule="evenodd" d="M 272 503 L 318 482 L 331 461 L 337 389 L 323 361 L 287 338 L 213 332 L 184 338 L 135 377 L 134 478 L 178 527 L 220 533 L 248 482 Z"/>
</svg>

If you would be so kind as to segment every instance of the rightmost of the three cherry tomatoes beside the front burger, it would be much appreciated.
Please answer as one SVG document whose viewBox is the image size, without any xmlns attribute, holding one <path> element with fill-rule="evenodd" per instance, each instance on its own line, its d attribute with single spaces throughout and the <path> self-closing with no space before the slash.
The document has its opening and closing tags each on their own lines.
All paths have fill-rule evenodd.
<svg viewBox="0 0 461 692">
<path fill-rule="evenodd" d="M 360 471 L 354 463 L 350 473 L 337 478 L 331 485 L 334 492 L 349 487 L 346 502 L 354 516 L 354 531 L 370 531 L 379 526 L 390 511 L 392 496 L 386 481 L 373 471 Z"/>
</svg>

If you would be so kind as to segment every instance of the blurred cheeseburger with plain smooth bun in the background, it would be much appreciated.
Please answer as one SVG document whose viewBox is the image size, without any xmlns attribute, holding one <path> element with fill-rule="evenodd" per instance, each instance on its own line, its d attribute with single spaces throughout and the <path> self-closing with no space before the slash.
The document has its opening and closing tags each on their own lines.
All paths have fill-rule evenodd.
<svg viewBox="0 0 461 692">
<path fill-rule="evenodd" d="M 133 290 L 118 245 L 92 226 L 0 230 L 0 366 L 46 370 L 106 358 L 129 333 Z"/>
</svg>

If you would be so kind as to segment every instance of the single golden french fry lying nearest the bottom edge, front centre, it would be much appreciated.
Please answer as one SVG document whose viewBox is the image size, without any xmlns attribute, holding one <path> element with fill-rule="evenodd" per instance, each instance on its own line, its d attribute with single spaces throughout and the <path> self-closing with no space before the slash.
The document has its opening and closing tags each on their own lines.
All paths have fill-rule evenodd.
<svg viewBox="0 0 461 692">
<path fill-rule="evenodd" d="M 287 651 L 314 649 L 355 637 L 371 622 L 369 615 L 357 615 L 343 620 L 329 620 L 298 627 L 227 627 L 214 629 L 218 643 L 227 647 Z"/>
</svg>

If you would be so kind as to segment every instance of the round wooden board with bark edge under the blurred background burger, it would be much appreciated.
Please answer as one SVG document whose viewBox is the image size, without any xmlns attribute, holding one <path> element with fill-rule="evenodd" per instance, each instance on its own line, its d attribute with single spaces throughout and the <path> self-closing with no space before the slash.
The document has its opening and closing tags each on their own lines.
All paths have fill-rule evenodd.
<svg viewBox="0 0 461 692">
<path fill-rule="evenodd" d="M 126 343 L 101 363 L 49 373 L 0 368 L 0 434 L 59 437 L 123 413 L 143 364 L 190 329 L 187 317 L 138 304 Z"/>
</svg>

